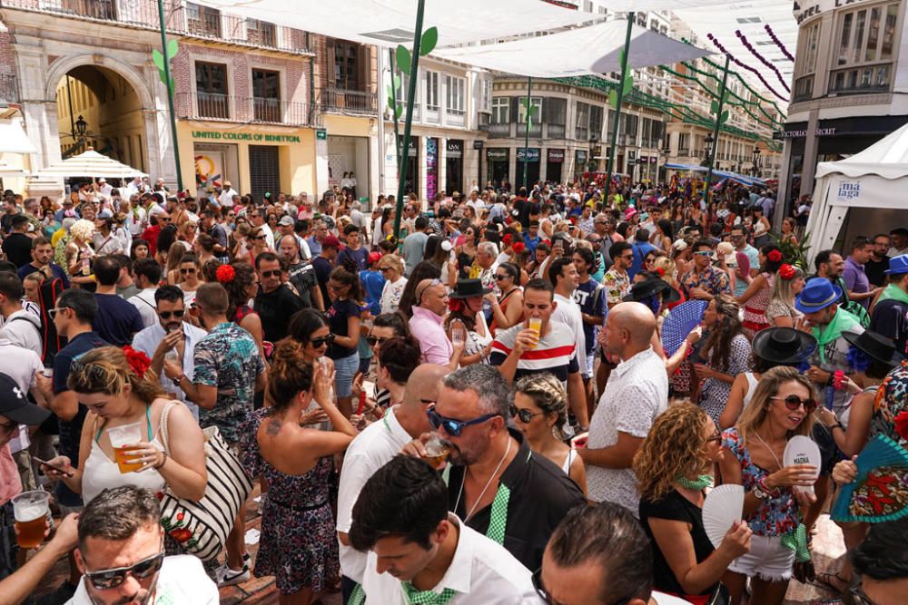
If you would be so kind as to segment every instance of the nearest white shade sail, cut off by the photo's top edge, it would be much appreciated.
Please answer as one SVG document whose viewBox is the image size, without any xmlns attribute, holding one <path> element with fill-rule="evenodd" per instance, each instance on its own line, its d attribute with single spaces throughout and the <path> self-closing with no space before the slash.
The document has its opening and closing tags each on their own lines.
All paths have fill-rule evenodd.
<svg viewBox="0 0 908 605">
<path fill-rule="evenodd" d="M 416 0 L 198 0 L 234 15 L 379 46 L 410 45 Z M 506 38 L 597 19 L 531 0 L 428 0 L 423 31 L 439 28 L 439 47 Z"/>
</svg>

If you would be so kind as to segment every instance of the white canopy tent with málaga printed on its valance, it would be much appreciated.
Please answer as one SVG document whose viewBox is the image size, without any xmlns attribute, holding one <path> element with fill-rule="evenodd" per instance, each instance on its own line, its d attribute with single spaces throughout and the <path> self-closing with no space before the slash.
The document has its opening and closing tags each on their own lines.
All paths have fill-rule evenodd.
<svg viewBox="0 0 908 605">
<path fill-rule="evenodd" d="M 820 162 L 816 167 L 814 206 L 807 221 L 810 259 L 818 251 L 834 247 L 849 208 L 885 210 L 855 213 L 852 220 L 861 218 L 867 225 L 855 232 L 864 235 L 873 236 L 876 231 L 888 232 L 908 225 L 905 190 L 908 190 L 908 124 L 850 158 Z M 866 223 L 868 217 L 875 222 Z"/>
</svg>

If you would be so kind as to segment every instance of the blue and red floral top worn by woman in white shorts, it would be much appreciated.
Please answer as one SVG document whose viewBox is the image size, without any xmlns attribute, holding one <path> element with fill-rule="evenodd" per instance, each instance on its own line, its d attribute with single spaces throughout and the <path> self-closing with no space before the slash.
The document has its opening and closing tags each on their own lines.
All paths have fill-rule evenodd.
<svg viewBox="0 0 908 605">
<path fill-rule="evenodd" d="M 770 474 L 751 460 L 744 439 L 736 428 L 730 428 L 722 434 L 722 446 L 734 454 L 741 464 L 741 483 L 744 484 L 745 493 L 753 491 L 756 482 Z M 779 490 L 779 495 L 763 500 L 745 521 L 759 536 L 781 536 L 794 532 L 798 524 L 795 494 L 789 489 Z"/>
</svg>

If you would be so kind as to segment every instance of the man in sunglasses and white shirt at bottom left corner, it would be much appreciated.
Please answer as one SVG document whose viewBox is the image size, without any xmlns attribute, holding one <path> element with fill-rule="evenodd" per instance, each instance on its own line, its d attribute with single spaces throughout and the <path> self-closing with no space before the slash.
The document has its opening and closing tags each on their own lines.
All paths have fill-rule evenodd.
<svg viewBox="0 0 908 605">
<path fill-rule="evenodd" d="M 104 490 L 79 516 L 78 530 L 75 559 L 84 576 L 66 605 L 220 602 L 202 561 L 164 556 L 161 507 L 151 490 Z"/>
</svg>

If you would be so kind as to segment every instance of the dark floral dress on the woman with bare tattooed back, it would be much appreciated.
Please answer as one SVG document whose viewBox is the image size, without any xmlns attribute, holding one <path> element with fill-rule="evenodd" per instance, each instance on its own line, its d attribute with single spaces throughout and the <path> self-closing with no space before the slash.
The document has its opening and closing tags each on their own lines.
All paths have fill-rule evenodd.
<svg viewBox="0 0 908 605">
<path fill-rule="evenodd" d="M 291 476 L 262 458 L 257 434 L 270 410 L 252 412 L 241 429 L 241 462 L 252 477 L 268 480 L 262 509 L 262 537 L 255 576 L 274 576 L 281 594 L 303 588 L 319 592 L 340 577 L 338 541 L 331 515 L 329 478 L 332 459 L 325 456 L 309 472 Z"/>
</svg>

